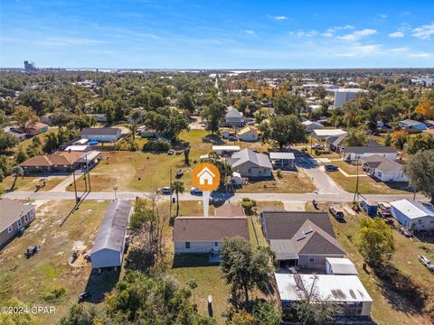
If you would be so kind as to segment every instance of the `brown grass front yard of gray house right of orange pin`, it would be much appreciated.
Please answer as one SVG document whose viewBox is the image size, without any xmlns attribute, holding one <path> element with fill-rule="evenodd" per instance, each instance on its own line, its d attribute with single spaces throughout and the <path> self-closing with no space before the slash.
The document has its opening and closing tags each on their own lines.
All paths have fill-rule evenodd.
<svg viewBox="0 0 434 325">
<path fill-rule="evenodd" d="M 306 172 L 282 172 L 282 178 L 278 179 L 273 172 L 273 180 L 250 180 L 249 184 L 237 190 L 241 193 L 309 193 L 316 190 L 314 184 Z"/>
</svg>

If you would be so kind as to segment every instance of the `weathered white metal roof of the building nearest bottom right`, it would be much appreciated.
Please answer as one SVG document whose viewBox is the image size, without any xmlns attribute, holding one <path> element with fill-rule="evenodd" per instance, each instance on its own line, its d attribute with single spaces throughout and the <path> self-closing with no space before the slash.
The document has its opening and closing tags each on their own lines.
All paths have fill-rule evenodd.
<svg viewBox="0 0 434 325">
<path fill-rule="evenodd" d="M 293 302 L 303 299 L 297 283 L 306 289 L 312 287 L 316 277 L 316 291 L 320 297 L 334 302 L 372 302 L 357 275 L 332 274 L 275 274 L 281 301 Z M 296 277 L 300 281 L 296 282 Z"/>
</svg>

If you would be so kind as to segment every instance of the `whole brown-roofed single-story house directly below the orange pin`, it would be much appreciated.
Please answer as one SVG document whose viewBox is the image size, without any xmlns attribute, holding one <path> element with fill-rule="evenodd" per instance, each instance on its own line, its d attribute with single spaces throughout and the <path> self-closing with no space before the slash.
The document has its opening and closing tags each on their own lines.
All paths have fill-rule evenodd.
<svg viewBox="0 0 434 325">
<path fill-rule="evenodd" d="M 174 250 L 181 253 L 217 253 L 224 237 L 250 240 L 246 217 L 177 217 L 174 224 Z"/>
</svg>

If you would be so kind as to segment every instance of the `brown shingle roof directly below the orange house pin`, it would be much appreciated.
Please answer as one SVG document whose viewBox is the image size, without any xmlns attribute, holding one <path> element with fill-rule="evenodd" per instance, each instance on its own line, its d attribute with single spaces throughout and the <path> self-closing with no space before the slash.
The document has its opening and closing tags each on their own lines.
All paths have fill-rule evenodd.
<svg viewBox="0 0 434 325">
<path fill-rule="evenodd" d="M 247 218 L 178 217 L 174 224 L 174 241 L 220 241 L 240 236 L 250 240 Z"/>
</svg>

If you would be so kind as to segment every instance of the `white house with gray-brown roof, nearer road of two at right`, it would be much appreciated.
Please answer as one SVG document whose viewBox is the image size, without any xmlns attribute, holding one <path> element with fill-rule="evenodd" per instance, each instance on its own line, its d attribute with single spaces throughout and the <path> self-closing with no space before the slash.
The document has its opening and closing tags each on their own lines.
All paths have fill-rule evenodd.
<svg viewBox="0 0 434 325">
<path fill-rule="evenodd" d="M 380 154 L 361 158 L 363 171 L 380 181 L 408 181 L 403 165 Z"/>
</svg>

